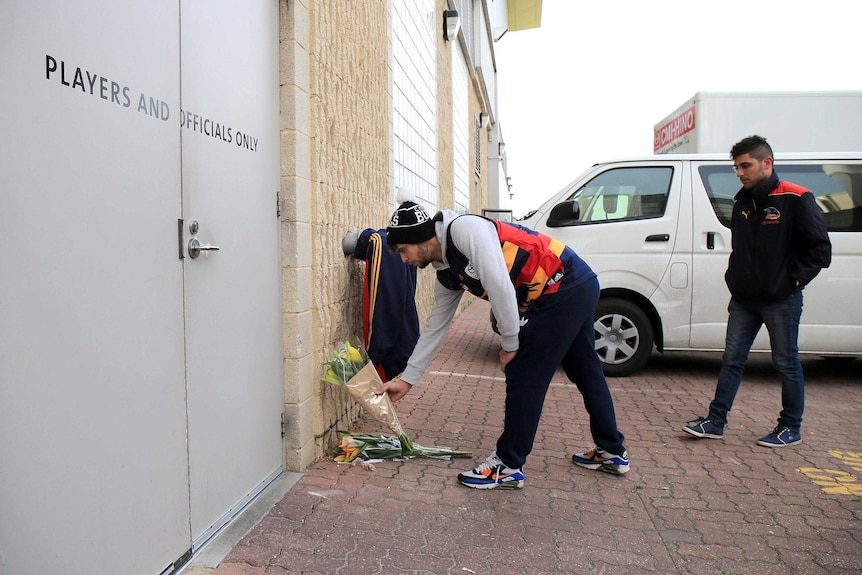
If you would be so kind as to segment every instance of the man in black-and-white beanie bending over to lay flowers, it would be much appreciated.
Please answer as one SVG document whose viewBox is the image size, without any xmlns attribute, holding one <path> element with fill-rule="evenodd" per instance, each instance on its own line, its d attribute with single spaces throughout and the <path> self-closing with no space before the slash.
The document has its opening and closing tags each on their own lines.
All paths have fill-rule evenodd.
<svg viewBox="0 0 862 575">
<path fill-rule="evenodd" d="M 399 191 L 386 228 L 402 261 L 437 271 L 434 307 L 401 379 L 381 393 L 402 398 L 440 347 L 464 291 L 488 299 L 501 337 L 506 374 L 503 433 L 484 463 L 458 474 L 476 489 L 520 489 L 522 467 L 533 448 L 545 394 L 557 368 L 578 387 L 596 447 L 572 460 L 621 475 L 629 469 L 613 399 L 595 352 L 593 314 L 599 298 L 595 273 L 561 242 L 522 226 L 444 210 L 433 218 Z"/>
</svg>

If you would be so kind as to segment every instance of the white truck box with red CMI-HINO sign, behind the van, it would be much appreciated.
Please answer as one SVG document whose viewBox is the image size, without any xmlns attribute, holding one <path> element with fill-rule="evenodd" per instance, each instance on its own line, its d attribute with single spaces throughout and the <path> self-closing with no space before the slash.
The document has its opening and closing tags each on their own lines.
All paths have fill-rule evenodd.
<svg viewBox="0 0 862 575">
<path fill-rule="evenodd" d="M 698 92 L 653 127 L 653 153 L 728 153 L 758 134 L 776 153 L 862 150 L 862 91 Z"/>
</svg>

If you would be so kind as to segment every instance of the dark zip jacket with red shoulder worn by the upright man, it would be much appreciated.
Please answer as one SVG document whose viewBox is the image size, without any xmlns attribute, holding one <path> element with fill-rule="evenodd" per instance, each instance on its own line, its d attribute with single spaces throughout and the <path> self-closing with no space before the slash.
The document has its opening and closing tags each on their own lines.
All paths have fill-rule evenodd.
<svg viewBox="0 0 862 575">
<path fill-rule="evenodd" d="M 734 197 L 730 262 L 734 298 L 774 302 L 804 288 L 832 261 L 832 244 L 814 194 L 773 173 Z"/>
</svg>

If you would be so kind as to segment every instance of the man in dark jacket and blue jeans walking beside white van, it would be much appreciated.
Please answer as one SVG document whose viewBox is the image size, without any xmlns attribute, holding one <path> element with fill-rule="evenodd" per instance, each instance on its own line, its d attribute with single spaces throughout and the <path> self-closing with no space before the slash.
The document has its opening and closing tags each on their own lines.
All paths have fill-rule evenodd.
<svg viewBox="0 0 862 575">
<path fill-rule="evenodd" d="M 709 414 L 688 422 L 683 431 L 710 439 L 724 435 L 751 345 L 761 325 L 766 325 L 772 363 L 781 378 L 782 410 L 772 433 L 757 443 L 796 445 L 802 442 L 805 407 L 797 346 L 802 289 L 829 267 L 832 244 L 814 194 L 778 179 L 772 148 L 764 138 L 743 139 L 731 148 L 730 157 L 742 189 L 734 198 L 730 223 L 732 249 L 725 282 L 731 298 L 724 355 Z"/>
</svg>

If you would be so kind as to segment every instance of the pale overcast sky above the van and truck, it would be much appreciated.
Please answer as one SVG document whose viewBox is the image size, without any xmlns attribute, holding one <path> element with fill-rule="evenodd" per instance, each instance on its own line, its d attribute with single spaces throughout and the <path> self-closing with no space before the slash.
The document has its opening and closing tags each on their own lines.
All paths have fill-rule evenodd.
<svg viewBox="0 0 862 575">
<path fill-rule="evenodd" d="M 858 10 L 544 0 L 540 28 L 495 44 L 508 207 L 522 216 L 596 162 L 652 154 L 653 125 L 699 91 L 862 89 Z"/>
</svg>

